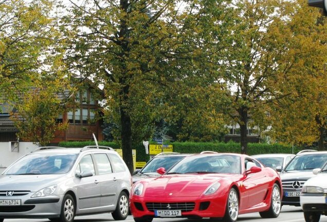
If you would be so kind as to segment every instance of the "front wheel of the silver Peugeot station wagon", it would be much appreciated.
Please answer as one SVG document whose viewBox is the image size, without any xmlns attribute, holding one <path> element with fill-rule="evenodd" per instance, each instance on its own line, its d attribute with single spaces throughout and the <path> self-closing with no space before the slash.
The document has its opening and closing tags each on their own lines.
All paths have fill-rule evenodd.
<svg viewBox="0 0 327 222">
<path fill-rule="evenodd" d="M 66 194 L 62 201 L 60 218 L 58 220 L 62 222 L 72 222 L 74 221 L 75 212 L 76 212 L 75 200 L 74 198 L 72 198 L 70 194 Z M 54 219 L 54 221 L 58 221 L 58 220 Z"/>
</svg>

